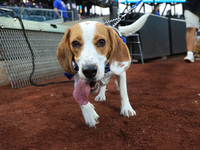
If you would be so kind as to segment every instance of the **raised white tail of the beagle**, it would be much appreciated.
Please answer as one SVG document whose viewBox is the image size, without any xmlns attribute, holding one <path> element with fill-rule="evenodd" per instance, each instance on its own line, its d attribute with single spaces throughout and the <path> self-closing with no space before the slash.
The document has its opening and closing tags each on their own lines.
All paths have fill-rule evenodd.
<svg viewBox="0 0 200 150">
<path fill-rule="evenodd" d="M 150 14 L 145 14 L 142 17 L 140 17 L 137 21 L 135 21 L 134 23 L 132 23 L 131 25 L 128 26 L 119 26 L 118 29 L 120 31 L 120 33 L 124 36 L 128 36 L 132 33 L 137 32 L 138 30 L 140 30 L 143 25 L 145 24 L 147 18 L 149 17 Z"/>
</svg>

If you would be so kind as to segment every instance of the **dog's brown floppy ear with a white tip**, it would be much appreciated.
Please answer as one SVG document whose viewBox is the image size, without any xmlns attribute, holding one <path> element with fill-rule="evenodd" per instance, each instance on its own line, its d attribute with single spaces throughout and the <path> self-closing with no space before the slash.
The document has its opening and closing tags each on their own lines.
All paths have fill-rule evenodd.
<svg viewBox="0 0 200 150">
<path fill-rule="evenodd" d="M 111 27 L 108 27 L 108 32 L 111 40 L 110 70 L 119 75 L 130 66 L 131 58 L 129 50 L 122 38 Z"/>
</svg>

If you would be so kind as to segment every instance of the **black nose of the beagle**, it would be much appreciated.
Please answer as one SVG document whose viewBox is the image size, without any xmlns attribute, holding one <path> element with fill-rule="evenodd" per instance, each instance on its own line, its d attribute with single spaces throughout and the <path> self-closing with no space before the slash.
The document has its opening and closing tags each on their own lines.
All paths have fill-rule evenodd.
<svg viewBox="0 0 200 150">
<path fill-rule="evenodd" d="M 96 65 L 85 65 L 82 68 L 82 72 L 86 78 L 94 78 L 97 74 L 97 66 Z"/>
</svg>

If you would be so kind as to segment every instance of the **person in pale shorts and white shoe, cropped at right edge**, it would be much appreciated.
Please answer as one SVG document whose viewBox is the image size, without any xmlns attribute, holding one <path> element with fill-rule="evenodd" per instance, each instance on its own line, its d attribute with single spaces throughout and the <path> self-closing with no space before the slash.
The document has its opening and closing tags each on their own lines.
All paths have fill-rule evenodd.
<svg viewBox="0 0 200 150">
<path fill-rule="evenodd" d="M 193 48 L 195 44 L 195 33 L 199 28 L 200 19 L 200 0 L 187 0 L 185 3 L 185 21 L 186 21 L 186 62 L 194 62 Z"/>
</svg>

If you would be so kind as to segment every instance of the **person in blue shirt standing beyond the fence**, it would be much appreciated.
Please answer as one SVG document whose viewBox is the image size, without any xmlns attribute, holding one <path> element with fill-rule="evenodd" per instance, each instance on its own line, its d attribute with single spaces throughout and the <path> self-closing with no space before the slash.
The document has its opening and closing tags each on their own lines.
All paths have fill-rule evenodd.
<svg viewBox="0 0 200 150">
<path fill-rule="evenodd" d="M 55 0 L 53 2 L 53 7 L 55 10 L 55 18 L 58 19 L 61 17 L 61 13 L 58 12 L 58 10 L 62 10 L 62 16 L 64 19 L 64 22 L 68 21 L 68 14 L 67 14 L 67 8 L 65 6 L 65 3 L 62 0 Z"/>
</svg>

